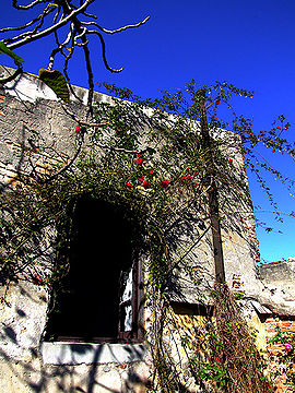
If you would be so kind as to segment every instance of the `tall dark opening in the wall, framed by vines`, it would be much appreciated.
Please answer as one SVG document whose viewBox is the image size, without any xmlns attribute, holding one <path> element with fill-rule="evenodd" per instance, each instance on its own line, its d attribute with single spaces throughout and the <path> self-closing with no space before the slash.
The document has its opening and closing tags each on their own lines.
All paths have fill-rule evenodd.
<svg viewBox="0 0 295 393">
<path fill-rule="evenodd" d="M 131 297 L 137 297 L 139 283 L 131 225 L 121 209 L 91 198 L 78 202 L 72 225 L 70 271 L 49 315 L 47 337 L 116 342 L 123 337 L 121 331 L 134 330 L 137 324 Z M 130 277 L 130 299 L 122 302 Z M 125 329 L 120 305 L 130 308 L 132 301 L 132 321 L 127 323 L 131 327 Z"/>
</svg>

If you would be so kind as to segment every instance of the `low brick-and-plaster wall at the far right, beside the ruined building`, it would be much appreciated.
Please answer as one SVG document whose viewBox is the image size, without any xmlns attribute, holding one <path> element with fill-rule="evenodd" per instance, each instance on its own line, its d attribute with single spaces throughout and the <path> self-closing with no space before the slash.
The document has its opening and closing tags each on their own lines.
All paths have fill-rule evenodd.
<svg viewBox="0 0 295 393">
<path fill-rule="evenodd" d="M 260 344 L 269 361 L 269 376 L 278 393 L 294 392 L 295 346 L 295 282 L 294 258 L 259 266 L 268 310 L 260 317 Z M 258 323 L 256 323 L 256 327 Z M 262 330 L 262 333 L 261 333 Z"/>
</svg>

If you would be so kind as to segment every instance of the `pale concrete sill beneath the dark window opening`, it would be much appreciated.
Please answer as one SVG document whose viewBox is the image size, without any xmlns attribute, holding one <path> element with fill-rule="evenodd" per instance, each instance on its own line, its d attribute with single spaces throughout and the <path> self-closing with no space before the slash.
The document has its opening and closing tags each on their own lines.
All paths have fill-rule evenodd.
<svg viewBox="0 0 295 393">
<path fill-rule="evenodd" d="M 125 364 L 143 361 L 148 348 L 144 344 L 44 342 L 40 353 L 45 365 Z"/>
</svg>

